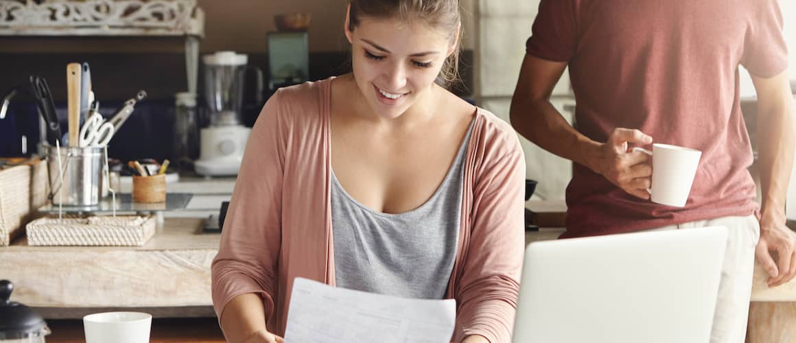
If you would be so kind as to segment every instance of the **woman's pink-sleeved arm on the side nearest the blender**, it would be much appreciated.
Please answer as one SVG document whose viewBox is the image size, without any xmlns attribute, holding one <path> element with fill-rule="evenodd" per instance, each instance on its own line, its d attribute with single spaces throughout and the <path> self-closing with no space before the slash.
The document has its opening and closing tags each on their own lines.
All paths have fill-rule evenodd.
<svg viewBox="0 0 796 343">
<path fill-rule="evenodd" d="M 213 306 L 230 341 L 265 329 L 275 311 L 282 241 L 284 143 L 279 92 L 249 135 L 213 260 Z"/>
</svg>

